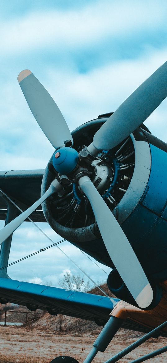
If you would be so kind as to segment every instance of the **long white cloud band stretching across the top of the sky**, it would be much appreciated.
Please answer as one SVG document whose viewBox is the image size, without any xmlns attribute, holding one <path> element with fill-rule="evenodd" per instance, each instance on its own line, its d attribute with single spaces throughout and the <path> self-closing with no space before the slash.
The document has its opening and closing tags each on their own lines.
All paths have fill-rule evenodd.
<svg viewBox="0 0 167 363">
<path fill-rule="evenodd" d="M 132 1 L 98 1 L 77 11 L 36 11 L 1 22 L 0 46 L 7 54 L 62 46 L 79 49 L 95 46 L 105 37 L 126 38 L 143 29 L 159 30 L 160 24 L 166 25 L 164 1 L 138 1 L 135 6 Z"/>
</svg>

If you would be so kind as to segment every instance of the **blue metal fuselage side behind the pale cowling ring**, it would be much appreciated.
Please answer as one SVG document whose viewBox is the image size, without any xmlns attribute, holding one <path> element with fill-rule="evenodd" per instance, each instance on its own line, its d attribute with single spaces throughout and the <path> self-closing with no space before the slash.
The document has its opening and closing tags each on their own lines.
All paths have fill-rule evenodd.
<svg viewBox="0 0 167 363">
<path fill-rule="evenodd" d="M 150 144 L 151 171 L 137 207 L 121 225 L 147 275 L 167 280 L 167 153 Z"/>
</svg>

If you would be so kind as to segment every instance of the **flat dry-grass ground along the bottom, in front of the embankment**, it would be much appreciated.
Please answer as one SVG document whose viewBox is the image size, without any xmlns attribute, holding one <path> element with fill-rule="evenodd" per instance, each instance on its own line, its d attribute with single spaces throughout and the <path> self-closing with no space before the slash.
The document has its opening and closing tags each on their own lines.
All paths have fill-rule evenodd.
<svg viewBox="0 0 167 363">
<path fill-rule="evenodd" d="M 137 332 L 129 333 L 130 338 L 128 330 L 120 329 L 107 350 L 104 353 L 99 352 L 93 362 L 105 362 L 141 336 Z M 30 330 L 29 327 L 0 326 L 0 363 L 49 363 L 59 355 L 72 356 L 81 363 L 91 350 L 96 336 L 92 334 L 70 335 L 66 332 L 46 333 L 39 329 Z M 131 352 L 126 358 L 119 360 L 119 363 L 130 362 L 164 345 L 166 345 L 166 338 L 151 338 L 142 347 Z M 167 353 L 146 362 L 165 363 L 167 362 Z"/>
</svg>

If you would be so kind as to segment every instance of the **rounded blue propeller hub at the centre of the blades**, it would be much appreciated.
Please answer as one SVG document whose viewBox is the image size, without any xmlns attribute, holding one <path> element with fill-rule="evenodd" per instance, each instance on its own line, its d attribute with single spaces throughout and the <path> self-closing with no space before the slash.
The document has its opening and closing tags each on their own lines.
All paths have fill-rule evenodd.
<svg viewBox="0 0 167 363">
<path fill-rule="evenodd" d="M 71 147 L 62 147 L 54 152 L 52 160 L 53 166 L 59 174 L 68 174 L 78 164 L 78 152 Z"/>
</svg>

